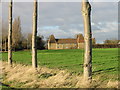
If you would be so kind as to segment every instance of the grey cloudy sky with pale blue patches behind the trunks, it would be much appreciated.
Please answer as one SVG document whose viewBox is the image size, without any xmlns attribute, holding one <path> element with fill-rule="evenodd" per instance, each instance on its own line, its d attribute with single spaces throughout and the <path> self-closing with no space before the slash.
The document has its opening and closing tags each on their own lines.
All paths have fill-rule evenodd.
<svg viewBox="0 0 120 90">
<path fill-rule="evenodd" d="M 97 43 L 118 38 L 118 3 L 90 3 L 92 34 Z M 44 37 L 54 34 L 56 38 L 74 38 L 75 34 L 84 34 L 81 2 L 39 2 L 38 5 L 38 34 Z M 7 22 L 8 3 L 3 3 L 2 7 L 2 18 Z M 31 32 L 33 3 L 16 2 L 13 9 L 13 17 L 21 18 L 22 32 Z"/>
</svg>

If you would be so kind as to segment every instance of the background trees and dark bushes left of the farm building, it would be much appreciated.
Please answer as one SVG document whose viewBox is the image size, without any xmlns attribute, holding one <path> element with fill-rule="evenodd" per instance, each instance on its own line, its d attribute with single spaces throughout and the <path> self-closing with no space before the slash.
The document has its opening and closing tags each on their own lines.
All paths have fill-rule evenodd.
<svg viewBox="0 0 120 90">
<path fill-rule="evenodd" d="M 2 51 L 8 50 L 8 27 L 6 23 L 2 25 Z M 37 49 L 44 49 L 45 41 L 43 36 L 37 36 Z M 32 46 L 32 33 L 29 33 L 27 37 L 21 32 L 20 17 L 14 19 L 12 24 L 12 50 L 31 49 Z"/>
</svg>

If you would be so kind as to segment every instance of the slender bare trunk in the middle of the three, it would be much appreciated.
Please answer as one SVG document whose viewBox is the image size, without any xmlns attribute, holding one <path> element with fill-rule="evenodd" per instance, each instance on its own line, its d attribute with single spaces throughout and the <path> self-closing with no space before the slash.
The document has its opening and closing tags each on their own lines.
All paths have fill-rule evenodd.
<svg viewBox="0 0 120 90">
<path fill-rule="evenodd" d="M 37 68 L 37 0 L 34 0 L 34 12 L 33 12 L 33 32 L 32 32 L 32 66 Z"/>
</svg>

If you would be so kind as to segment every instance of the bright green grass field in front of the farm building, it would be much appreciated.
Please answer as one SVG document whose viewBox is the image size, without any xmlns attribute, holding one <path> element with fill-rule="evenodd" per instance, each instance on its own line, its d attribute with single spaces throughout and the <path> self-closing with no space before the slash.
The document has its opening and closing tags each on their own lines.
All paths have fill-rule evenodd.
<svg viewBox="0 0 120 90">
<path fill-rule="evenodd" d="M 48 68 L 66 69 L 73 74 L 83 72 L 83 50 L 38 50 L 38 65 Z M 7 60 L 7 53 L 2 54 Z M 13 52 L 13 62 L 31 64 L 31 51 Z M 118 49 L 93 49 L 93 77 L 101 75 L 102 79 L 118 79 Z"/>
</svg>

